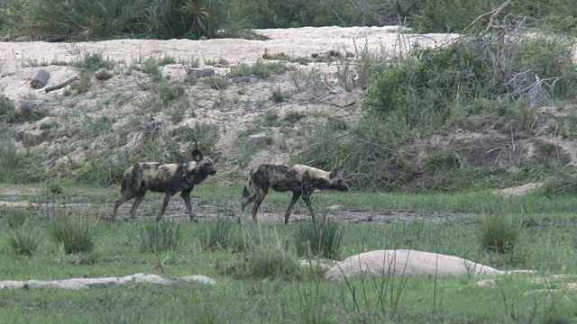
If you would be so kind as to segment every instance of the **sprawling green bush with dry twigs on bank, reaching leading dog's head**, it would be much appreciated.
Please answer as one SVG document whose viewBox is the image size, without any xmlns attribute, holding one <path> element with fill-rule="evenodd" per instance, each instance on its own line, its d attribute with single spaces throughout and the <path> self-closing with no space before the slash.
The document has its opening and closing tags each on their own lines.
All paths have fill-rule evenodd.
<svg viewBox="0 0 577 324">
<path fill-rule="evenodd" d="M 307 149 L 295 162 L 342 166 L 352 175 L 349 184 L 364 190 L 403 189 L 423 172 L 437 175 L 416 165 L 413 140 L 461 128 L 479 116 L 532 133 L 538 125 L 537 107 L 574 100 L 577 69 L 569 44 L 555 38 L 516 36 L 503 42 L 468 36 L 442 48 L 414 47 L 406 58 L 362 59 L 366 65 L 358 68 L 371 75 L 363 118 L 346 130 L 331 122 L 313 125 L 307 131 Z M 444 168 L 445 175 L 464 181 L 447 186 L 445 179 L 437 188 L 454 190 L 498 174 L 483 175 L 487 170 L 461 164 L 453 169 L 472 173 L 463 178 L 463 172 Z M 426 189 L 420 185 L 417 190 Z"/>
</svg>

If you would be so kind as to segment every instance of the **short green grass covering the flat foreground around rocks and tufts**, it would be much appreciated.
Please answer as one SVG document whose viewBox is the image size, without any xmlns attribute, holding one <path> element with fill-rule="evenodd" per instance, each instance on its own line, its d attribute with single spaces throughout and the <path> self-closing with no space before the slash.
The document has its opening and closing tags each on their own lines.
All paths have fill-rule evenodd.
<svg viewBox="0 0 577 324">
<path fill-rule="evenodd" d="M 193 197 L 202 197 L 215 205 L 238 198 L 241 180 L 231 187 L 217 185 L 217 181 L 209 179 L 198 185 Z M 94 212 L 110 209 L 119 194 L 110 188 L 61 185 L 67 194 L 95 203 Z M 0 200 L 14 187 L 33 186 L 0 184 Z M 37 187 L 42 189 L 43 184 Z M 317 211 L 339 204 L 343 210 L 382 213 L 471 213 L 393 223 L 337 221 L 342 231 L 341 259 L 374 249 L 413 248 L 463 257 L 499 269 L 532 269 L 538 271 L 537 276 L 577 273 L 574 235 L 577 219 L 573 207 L 577 204 L 570 196 L 506 200 L 490 193 L 324 192 L 315 193 L 314 197 Z M 29 194 L 26 198 L 40 201 L 42 196 Z M 280 221 L 289 198 L 289 194 L 270 193 L 264 204 L 279 214 Z M 139 209 L 143 216 L 151 216 L 150 206 L 158 205 L 161 199 L 160 193 L 147 194 Z M 175 198 L 171 205 L 176 201 Z M 302 202 L 298 202 L 297 208 L 299 212 L 306 211 Z M 490 211 L 521 221 L 512 252 L 491 253 L 479 244 L 482 220 Z M 151 226 L 151 217 L 134 221 L 99 220 L 93 227 L 95 250 L 88 255 L 68 255 L 50 240 L 50 220 L 35 219 L 36 214 L 30 212 L 25 222 L 26 229 L 38 234 L 35 253 L 32 257 L 19 256 L 5 246 L 0 250 L 0 279 L 49 280 L 149 273 L 168 277 L 207 275 L 217 284 L 128 284 L 82 291 L 0 290 L 2 322 L 188 323 L 193 318 L 193 322 L 213 323 L 527 323 L 530 320 L 571 323 L 575 320 L 577 292 L 553 280 L 548 282 L 549 293 L 525 294 L 546 290 L 547 284 L 529 281 L 522 275 L 499 277 L 495 284 L 482 287 L 476 284 L 477 278 L 466 275 L 436 279 L 408 277 L 403 279 L 406 284 L 402 286 L 400 277 L 388 281 L 356 278 L 349 283 L 328 283 L 318 275 L 307 276 L 305 270 L 294 267 L 298 258 L 294 239 L 304 225 L 298 222 L 285 226 L 256 225 L 250 219 L 243 225 L 231 221 L 227 223 L 230 229 L 226 230 L 231 233 L 231 244 L 205 250 L 202 235 L 216 226 L 215 220 L 200 218 L 198 223 L 182 220 L 178 223 L 181 238 L 177 250 L 142 252 L 138 238 L 144 227 Z M 7 221 L 0 219 L 0 226 L 7 228 Z M 161 220 L 161 223 L 171 222 Z M 1 231 L 0 241 L 5 241 L 10 233 Z M 238 248 L 241 240 L 249 242 L 248 247 Z M 574 281 L 575 276 L 566 280 Z"/>
</svg>

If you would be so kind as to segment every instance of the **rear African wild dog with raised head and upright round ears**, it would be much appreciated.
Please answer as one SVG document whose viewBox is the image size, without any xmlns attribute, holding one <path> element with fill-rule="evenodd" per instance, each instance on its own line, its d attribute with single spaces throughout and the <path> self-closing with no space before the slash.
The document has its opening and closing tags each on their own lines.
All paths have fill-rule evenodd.
<svg viewBox="0 0 577 324">
<path fill-rule="evenodd" d="M 202 153 L 195 149 L 192 151 L 193 161 L 188 163 L 160 164 L 158 162 L 135 163 L 124 171 L 121 193 L 122 197 L 114 202 L 113 219 L 116 217 L 118 207 L 134 197 L 133 208 L 130 216 L 134 219 L 135 211 L 144 199 L 147 190 L 156 193 L 165 193 L 164 202 L 160 214 L 156 220 L 160 220 L 170 198 L 175 193 L 180 193 L 187 205 L 188 217 L 195 220 L 190 204 L 190 193 L 195 185 L 203 182 L 208 175 L 215 175 L 216 169 L 212 159 L 203 157 Z"/>
</svg>

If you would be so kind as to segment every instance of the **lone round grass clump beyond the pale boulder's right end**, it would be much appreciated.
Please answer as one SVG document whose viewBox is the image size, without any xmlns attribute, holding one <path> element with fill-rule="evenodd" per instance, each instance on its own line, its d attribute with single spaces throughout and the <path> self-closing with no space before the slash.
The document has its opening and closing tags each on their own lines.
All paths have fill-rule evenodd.
<svg viewBox="0 0 577 324">
<path fill-rule="evenodd" d="M 513 252 L 519 239 L 521 222 L 503 215 L 487 216 L 481 225 L 479 241 L 487 251 L 505 254 Z"/>
</svg>

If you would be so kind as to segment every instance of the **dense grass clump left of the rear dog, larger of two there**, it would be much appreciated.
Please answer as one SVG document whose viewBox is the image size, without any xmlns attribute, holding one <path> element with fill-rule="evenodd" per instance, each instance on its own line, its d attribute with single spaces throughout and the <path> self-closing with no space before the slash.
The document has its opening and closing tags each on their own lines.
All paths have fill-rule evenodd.
<svg viewBox="0 0 577 324">
<path fill-rule="evenodd" d="M 95 248 L 94 222 L 87 215 L 58 211 L 50 220 L 49 232 L 66 254 L 89 253 Z"/>
</svg>

